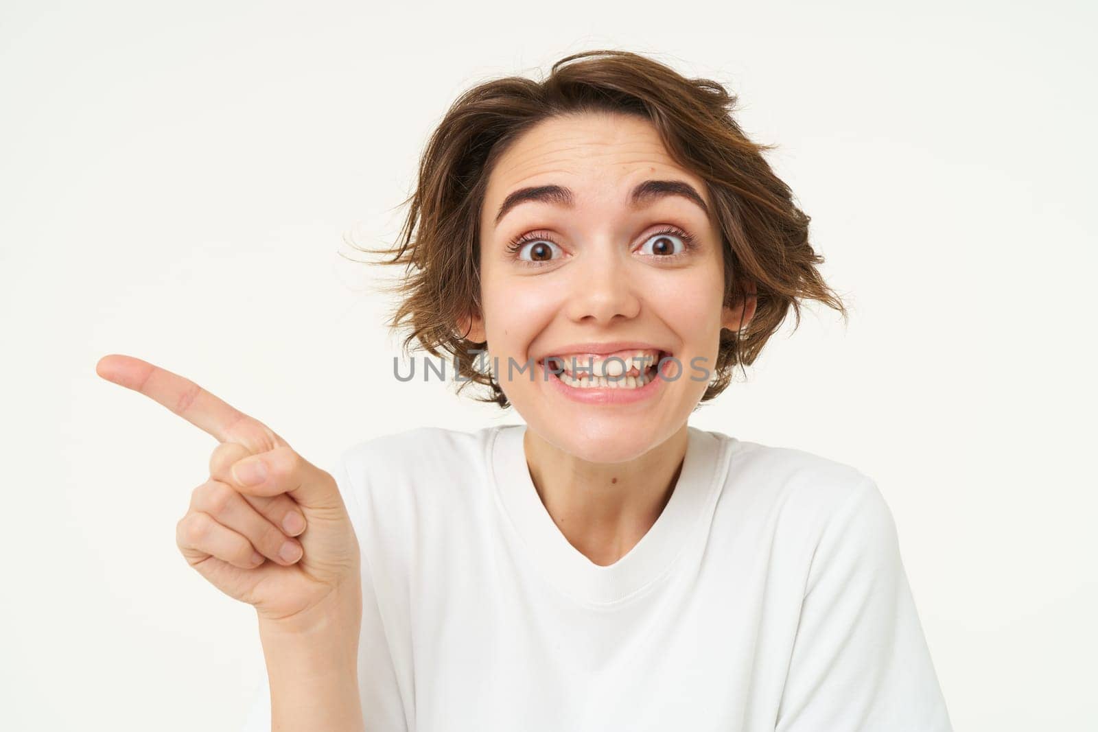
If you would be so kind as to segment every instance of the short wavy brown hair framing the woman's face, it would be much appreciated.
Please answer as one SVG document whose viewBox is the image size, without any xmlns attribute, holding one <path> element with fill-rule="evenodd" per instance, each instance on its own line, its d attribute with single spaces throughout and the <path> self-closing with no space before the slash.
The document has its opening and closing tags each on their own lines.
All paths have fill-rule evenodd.
<svg viewBox="0 0 1098 732">
<path fill-rule="evenodd" d="M 589 50 L 553 64 L 535 81 L 505 77 L 480 83 L 451 104 L 419 159 L 414 192 L 399 240 L 383 264 L 403 264 L 392 290 L 399 295 L 386 323 L 405 330 L 436 358 L 451 360 L 460 382 L 491 392 L 477 398 L 509 405 L 491 370 L 472 354 L 486 342 L 459 331 L 462 316 L 481 314 L 480 214 L 495 161 L 524 132 L 549 117 L 617 112 L 650 121 L 670 156 L 702 178 L 715 204 L 722 238 L 725 303 L 755 297 L 755 314 L 739 331 L 722 328 L 715 378 L 702 402 L 722 392 L 737 364 L 751 364 L 792 307 L 800 324 L 802 301 L 815 300 L 847 320 L 840 297 L 824 282 L 824 258 L 808 243 L 809 216 L 763 158 L 759 145 L 732 117 L 737 98 L 709 79 L 687 79 L 651 58 L 625 50 Z"/>
</svg>

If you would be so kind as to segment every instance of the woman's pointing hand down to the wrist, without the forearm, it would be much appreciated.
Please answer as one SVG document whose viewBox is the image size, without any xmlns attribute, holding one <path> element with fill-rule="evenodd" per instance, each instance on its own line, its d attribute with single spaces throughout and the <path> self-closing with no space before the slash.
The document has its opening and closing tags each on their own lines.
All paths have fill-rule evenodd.
<svg viewBox="0 0 1098 732">
<path fill-rule="evenodd" d="M 117 354 L 100 359 L 96 372 L 220 442 L 210 480 L 194 488 L 176 527 L 192 567 L 255 606 L 260 622 L 307 629 L 352 619 L 361 603 L 359 548 L 332 475 L 182 376 Z"/>
</svg>

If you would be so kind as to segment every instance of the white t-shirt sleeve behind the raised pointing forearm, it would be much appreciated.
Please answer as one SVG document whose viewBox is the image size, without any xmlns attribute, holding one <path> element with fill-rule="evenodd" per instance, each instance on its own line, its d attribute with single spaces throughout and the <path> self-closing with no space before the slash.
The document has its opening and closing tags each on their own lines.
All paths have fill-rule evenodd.
<svg viewBox="0 0 1098 732">
<path fill-rule="evenodd" d="M 339 487 L 347 513 L 350 515 L 355 533 L 359 537 L 359 547 L 366 548 L 359 533 L 367 526 L 363 521 L 362 504 L 357 495 L 361 488 L 350 477 L 347 468 L 347 453 L 344 453 L 332 475 Z M 404 717 L 404 706 L 396 680 L 396 673 L 390 652 L 385 627 L 378 606 L 378 596 L 370 567 L 369 552 L 362 552 L 362 630 L 358 645 L 358 682 L 359 698 L 362 703 L 362 721 L 367 732 L 406 732 L 407 722 Z M 251 702 L 247 720 L 242 732 L 270 732 L 270 685 L 264 674 L 259 690 Z"/>
</svg>

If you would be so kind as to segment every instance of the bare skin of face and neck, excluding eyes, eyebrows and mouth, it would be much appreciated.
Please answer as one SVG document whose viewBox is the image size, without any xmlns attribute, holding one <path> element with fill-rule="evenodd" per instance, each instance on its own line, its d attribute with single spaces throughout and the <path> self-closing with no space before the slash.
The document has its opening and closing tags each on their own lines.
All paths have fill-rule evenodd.
<svg viewBox="0 0 1098 732">
<path fill-rule="evenodd" d="M 481 210 L 483 309 L 461 324 L 502 365 L 501 387 L 527 423 L 526 459 L 542 503 L 568 541 L 598 565 L 628 553 L 671 496 L 687 418 L 707 386 L 690 378 L 698 375 L 692 359 L 712 371 L 721 328 L 738 330 L 754 314 L 753 297 L 722 306 L 724 252 L 713 216 L 682 196 L 629 205 L 634 185 L 651 179 L 688 182 L 713 211 L 705 182 L 671 158 L 645 120 L 584 113 L 527 131 L 490 172 Z M 571 189 L 574 206 L 525 202 L 496 223 L 512 191 L 547 184 Z M 664 243 L 658 250 L 653 233 L 666 225 L 692 235 L 696 247 Z M 528 232 L 551 244 L 508 251 Z M 670 256 L 679 251 L 686 254 Z M 616 340 L 653 344 L 686 370 L 654 398 L 616 405 L 573 402 L 528 374 L 508 379 L 508 358 L 525 364 L 568 344 Z"/>
</svg>

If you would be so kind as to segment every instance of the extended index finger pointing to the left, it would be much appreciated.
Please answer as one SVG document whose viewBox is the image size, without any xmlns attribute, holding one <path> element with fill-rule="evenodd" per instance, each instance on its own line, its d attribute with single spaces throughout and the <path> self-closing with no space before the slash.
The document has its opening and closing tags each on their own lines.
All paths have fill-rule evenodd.
<svg viewBox="0 0 1098 732">
<path fill-rule="evenodd" d="M 132 356 L 112 353 L 96 363 L 96 373 L 161 404 L 220 442 L 237 442 L 253 452 L 285 446 L 258 419 L 217 398 L 193 381 Z"/>
</svg>

